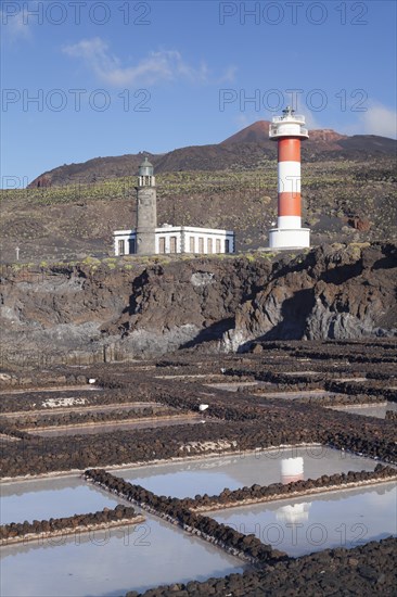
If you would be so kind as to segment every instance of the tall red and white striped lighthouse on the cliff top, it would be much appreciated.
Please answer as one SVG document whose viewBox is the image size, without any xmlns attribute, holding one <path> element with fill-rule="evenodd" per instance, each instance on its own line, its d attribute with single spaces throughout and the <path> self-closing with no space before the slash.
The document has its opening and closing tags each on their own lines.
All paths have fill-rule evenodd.
<svg viewBox="0 0 397 597">
<path fill-rule="evenodd" d="M 274 116 L 269 138 L 278 141 L 278 220 L 269 230 L 269 246 L 299 249 L 310 246 L 310 230 L 300 218 L 300 140 L 309 138 L 305 116 L 286 106 Z"/>
</svg>

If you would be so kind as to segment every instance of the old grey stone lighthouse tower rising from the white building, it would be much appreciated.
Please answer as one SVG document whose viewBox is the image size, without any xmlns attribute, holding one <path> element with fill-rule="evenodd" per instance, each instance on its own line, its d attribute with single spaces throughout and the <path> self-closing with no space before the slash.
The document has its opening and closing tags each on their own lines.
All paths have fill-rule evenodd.
<svg viewBox="0 0 397 597">
<path fill-rule="evenodd" d="M 156 181 L 153 165 L 148 157 L 139 167 L 137 189 L 137 253 L 154 255 L 156 252 Z"/>
</svg>

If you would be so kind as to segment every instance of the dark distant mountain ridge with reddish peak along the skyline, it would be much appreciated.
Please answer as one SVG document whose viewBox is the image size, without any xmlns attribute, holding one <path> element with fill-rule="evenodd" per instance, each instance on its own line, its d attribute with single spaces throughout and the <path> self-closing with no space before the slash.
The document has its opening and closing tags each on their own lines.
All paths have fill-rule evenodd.
<svg viewBox="0 0 397 597">
<path fill-rule="evenodd" d="M 165 154 L 141 152 L 108 157 L 95 157 L 81 164 L 59 166 L 42 173 L 30 188 L 53 185 L 97 182 L 107 178 L 131 176 L 138 170 L 142 156 L 149 155 L 156 173 L 187 170 L 255 169 L 262 158 L 277 156 L 277 144 L 269 139 L 269 120 L 258 120 L 225 141 L 213 145 L 192 145 Z M 319 161 L 334 157 L 345 160 L 363 156 L 394 155 L 396 141 L 375 135 L 348 137 L 332 129 L 310 131 L 310 138 L 303 145 L 303 157 Z"/>
</svg>

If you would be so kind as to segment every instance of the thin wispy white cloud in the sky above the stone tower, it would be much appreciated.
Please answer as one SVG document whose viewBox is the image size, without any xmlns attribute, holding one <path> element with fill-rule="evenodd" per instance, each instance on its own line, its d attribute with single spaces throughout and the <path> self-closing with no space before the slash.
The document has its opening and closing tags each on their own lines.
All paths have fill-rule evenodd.
<svg viewBox="0 0 397 597">
<path fill-rule="evenodd" d="M 95 76 L 107 85 L 123 87 L 127 85 L 154 85 L 162 80 L 182 78 L 192 84 L 212 82 L 208 66 L 203 62 L 198 67 L 188 64 L 180 52 L 161 50 L 151 52 L 137 64 L 123 66 L 120 60 L 112 54 L 108 45 L 100 37 L 84 39 L 73 46 L 63 48 L 69 56 L 84 60 Z M 233 76 L 229 67 L 223 77 Z"/>
</svg>

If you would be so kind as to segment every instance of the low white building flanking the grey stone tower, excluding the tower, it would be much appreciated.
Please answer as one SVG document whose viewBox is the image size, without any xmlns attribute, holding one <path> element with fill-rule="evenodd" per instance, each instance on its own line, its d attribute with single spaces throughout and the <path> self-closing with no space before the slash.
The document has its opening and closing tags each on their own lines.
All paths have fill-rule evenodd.
<svg viewBox="0 0 397 597">
<path fill-rule="evenodd" d="M 136 230 L 116 230 L 113 237 L 115 255 L 135 255 L 137 253 Z M 212 255 L 234 252 L 235 240 L 232 230 L 170 226 L 168 224 L 155 229 L 156 255 L 171 253 Z"/>
</svg>

